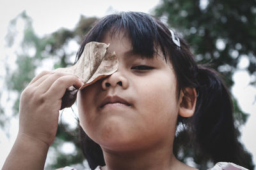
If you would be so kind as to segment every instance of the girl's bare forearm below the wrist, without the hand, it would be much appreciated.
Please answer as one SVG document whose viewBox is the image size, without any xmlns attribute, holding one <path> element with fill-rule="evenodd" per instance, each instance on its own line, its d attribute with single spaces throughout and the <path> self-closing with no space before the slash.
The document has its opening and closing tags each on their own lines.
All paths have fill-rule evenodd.
<svg viewBox="0 0 256 170">
<path fill-rule="evenodd" d="M 49 146 L 43 141 L 19 134 L 4 162 L 7 169 L 44 169 Z"/>
</svg>

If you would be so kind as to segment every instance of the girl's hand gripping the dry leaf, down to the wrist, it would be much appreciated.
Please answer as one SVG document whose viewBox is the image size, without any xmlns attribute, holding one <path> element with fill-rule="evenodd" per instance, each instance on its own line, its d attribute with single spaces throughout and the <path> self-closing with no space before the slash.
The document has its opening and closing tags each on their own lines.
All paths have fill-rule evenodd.
<svg viewBox="0 0 256 170">
<path fill-rule="evenodd" d="M 74 74 L 43 71 L 20 96 L 19 134 L 50 146 L 56 136 L 61 98 L 68 87 L 79 89 L 83 81 Z"/>
</svg>

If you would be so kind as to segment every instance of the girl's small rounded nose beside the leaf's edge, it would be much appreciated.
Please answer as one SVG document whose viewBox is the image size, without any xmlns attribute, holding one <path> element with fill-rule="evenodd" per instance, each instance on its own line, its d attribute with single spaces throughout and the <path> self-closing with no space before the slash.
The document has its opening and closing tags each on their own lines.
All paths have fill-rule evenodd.
<svg viewBox="0 0 256 170">
<path fill-rule="evenodd" d="M 119 71 L 116 71 L 102 81 L 102 88 L 104 90 L 110 87 L 122 87 L 123 89 L 127 89 L 129 87 L 129 81 Z"/>
</svg>

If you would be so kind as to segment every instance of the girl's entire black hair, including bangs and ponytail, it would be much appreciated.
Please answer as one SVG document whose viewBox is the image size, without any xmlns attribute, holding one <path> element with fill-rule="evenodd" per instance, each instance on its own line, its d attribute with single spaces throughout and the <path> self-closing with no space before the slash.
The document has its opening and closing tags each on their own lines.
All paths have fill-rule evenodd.
<svg viewBox="0 0 256 170">
<path fill-rule="evenodd" d="M 237 139 L 228 89 L 216 71 L 196 64 L 184 39 L 179 37 L 179 47 L 173 42 L 168 26 L 157 18 L 146 13 L 122 12 L 108 15 L 92 27 L 77 52 L 76 60 L 83 53 L 86 43 L 100 42 L 106 32 L 111 35 L 124 32 L 131 39 L 132 51 L 143 57 L 152 58 L 160 50 L 164 59 L 172 63 L 177 78 L 177 95 L 186 87 L 195 88 L 198 94 L 193 117 L 179 117 L 177 120 L 177 124 L 185 125 L 184 131 L 194 136 L 191 138 L 195 141 L 194 148 L 200 148 L 200 152 L 209 155 L 214 163 L 234 162 L 244 166 L 241 159 L 243 148 Z M 177 146 L 175 141 L 173 147 Z M 81 147 L 92 169 L 104 166 L 100 146 L 83 129 Z"/>
</svg>

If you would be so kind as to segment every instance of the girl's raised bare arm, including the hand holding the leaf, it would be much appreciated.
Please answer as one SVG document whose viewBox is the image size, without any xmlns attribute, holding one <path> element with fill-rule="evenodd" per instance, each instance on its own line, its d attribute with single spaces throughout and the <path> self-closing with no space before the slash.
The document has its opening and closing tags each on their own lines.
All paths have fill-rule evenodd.
<svg viewBox="0 0 256 170">
<path fill-rule="evenodd" d="M 44 169 L 56 136 L 61 98 L 72 85 L 79 88 L 83 82 L 73 74 L 49 71 L 29 83 L 20 96 L 19 132 L 3 170 Z"/>
</svg>

